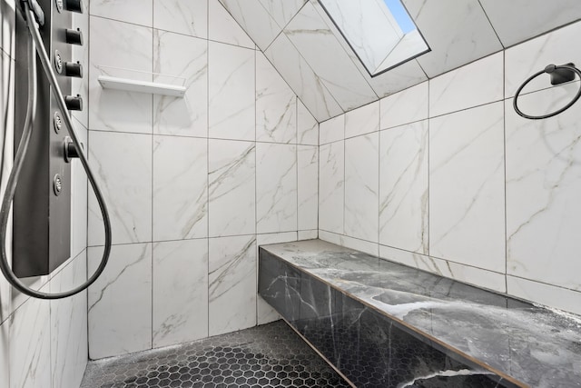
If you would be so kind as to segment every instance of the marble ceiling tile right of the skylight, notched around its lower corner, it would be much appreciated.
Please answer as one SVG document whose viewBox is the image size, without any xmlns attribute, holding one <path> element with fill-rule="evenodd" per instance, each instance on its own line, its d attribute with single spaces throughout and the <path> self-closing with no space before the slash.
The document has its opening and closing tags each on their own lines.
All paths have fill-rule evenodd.
<svg viewBox="0 0 581 388">
<path fill-rule="evenodd" d="M 478 0 L 403 0 L 431 52 L 418 57 L 428 77 L 502 50 Z"/>
</svg>

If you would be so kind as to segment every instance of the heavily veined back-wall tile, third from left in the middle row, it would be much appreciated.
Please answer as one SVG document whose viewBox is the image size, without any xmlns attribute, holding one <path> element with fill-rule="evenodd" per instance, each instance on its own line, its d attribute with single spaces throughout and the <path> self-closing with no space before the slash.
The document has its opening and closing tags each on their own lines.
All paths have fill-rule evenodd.
<svg viewBox="0 0 581 388">
<path fill-rule="evenodd" d="M 208 222 L 210 236 L 256 233 L 256 146 L 209 141 Z"/>
</svg>

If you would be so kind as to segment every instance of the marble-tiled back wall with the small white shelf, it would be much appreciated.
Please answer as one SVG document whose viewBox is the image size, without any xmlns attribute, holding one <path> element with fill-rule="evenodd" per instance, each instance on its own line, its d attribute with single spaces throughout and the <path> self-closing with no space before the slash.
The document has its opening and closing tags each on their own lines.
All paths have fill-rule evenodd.
<svg viewBox="0 0 581 388">
<path fill-rule="evenodd" d="M 319 124 L 218 0 L 93 0 L 90 15 L 89 154 L 114 244 L 89 290 L 90 357 L 276 318 L 257 300 L 257 244 L 317 236 Z M 104 90 L 103 74 L 177 75 L 187 92 Z M 88 244 L 91 272 L 92 194 Z"/>
</svg>

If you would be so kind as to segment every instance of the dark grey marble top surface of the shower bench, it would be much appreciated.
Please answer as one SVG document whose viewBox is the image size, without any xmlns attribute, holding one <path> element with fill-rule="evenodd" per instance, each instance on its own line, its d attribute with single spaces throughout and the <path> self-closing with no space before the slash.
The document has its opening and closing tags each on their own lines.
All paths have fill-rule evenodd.
<svg viewBox="0 0 581 388">
<path fill-rule="evenodd" d="M 581 387 L 580 316 L 320 240 L 261 248 L 495 373 Z"/>
</svg>

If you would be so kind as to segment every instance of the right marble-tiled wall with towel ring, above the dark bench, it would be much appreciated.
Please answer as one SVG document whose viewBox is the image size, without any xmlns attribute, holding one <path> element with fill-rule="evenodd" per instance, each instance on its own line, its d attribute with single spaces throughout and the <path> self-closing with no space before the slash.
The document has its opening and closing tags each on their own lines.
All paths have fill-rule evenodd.
<svg viewBox="0 0 581 388">
<path fill-rule="evenodd" d="M 513 96 L 574 62 L 581 23 L 320 124 L 320 238 L 581 313 L 581 103 Z M 524 90 L 546 114 L 579 82 Z"/>
</svg>

